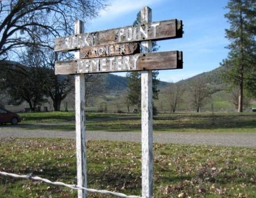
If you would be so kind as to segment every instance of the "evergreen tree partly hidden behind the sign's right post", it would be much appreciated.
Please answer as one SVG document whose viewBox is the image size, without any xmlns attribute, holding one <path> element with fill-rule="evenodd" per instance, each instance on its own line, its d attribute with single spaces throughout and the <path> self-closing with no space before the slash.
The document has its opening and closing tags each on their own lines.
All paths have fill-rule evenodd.
<svg viewBox="0 0 256 198">
<path fill-rule="evenodd" d="M 141 23 L 141 12 L 138 12 L 137 18 L 133 23 L 133 26 L 137 26 Z M 159 49 L 158 44 L 155 41 L 152 41 L 152 51 L 155 52 Z M 152 71 L 152 92 L 153 99 L 158 99 L 158 84 L 159 80 L 157 79 L 159 72 Z M 136 105 L 138 109 L 141 109 L 141 72 L 131 71 L 127 72 L 126 77 L 128 78 L 128 94 L 127 98 L 130 100 L 130 103 Z M 157 111 L 156 107 L 153 104 L 153 114 Z"/>
</svg>

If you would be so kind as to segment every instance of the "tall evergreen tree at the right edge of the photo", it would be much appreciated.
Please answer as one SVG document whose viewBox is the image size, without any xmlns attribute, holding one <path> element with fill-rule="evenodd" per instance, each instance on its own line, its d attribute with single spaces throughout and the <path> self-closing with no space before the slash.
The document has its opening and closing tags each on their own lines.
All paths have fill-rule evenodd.
<svg viewBox="0 0 256 198">
<path fill-rule="evenodd" d="M 255 7 L 254 0 L 229 0 L 225 17 L 230 28 L 225 30 L 229 39 L 228 58 L 222 62 L 228 70 L 222 75 L 233 87 L 238 86 L 238 112 L 243 111 L 243 89 L 256 96 L 255 69 Z"/>
</svg>

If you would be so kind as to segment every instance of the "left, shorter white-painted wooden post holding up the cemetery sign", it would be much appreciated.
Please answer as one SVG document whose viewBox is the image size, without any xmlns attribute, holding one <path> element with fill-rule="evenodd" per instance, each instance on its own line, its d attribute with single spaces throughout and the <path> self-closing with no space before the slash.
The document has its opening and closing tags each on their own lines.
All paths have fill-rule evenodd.
<svg viewBox="0 0 256 198">
<path fill-rule="evenodd" d="M 76 20 L 75 34 L 84 33 L 84 22 Z M 75 50 L 75 59 L 80 58 L 80 50 Z M 75 75 L 76 103 L 76 163 L 77 185 L 87 187 L 86 178 L 86 136 L 85 136 L 85 78 L 84 74 Z M 86 198 L 86 191 L 78 190 L 78 198 Z"/>
</svg>

